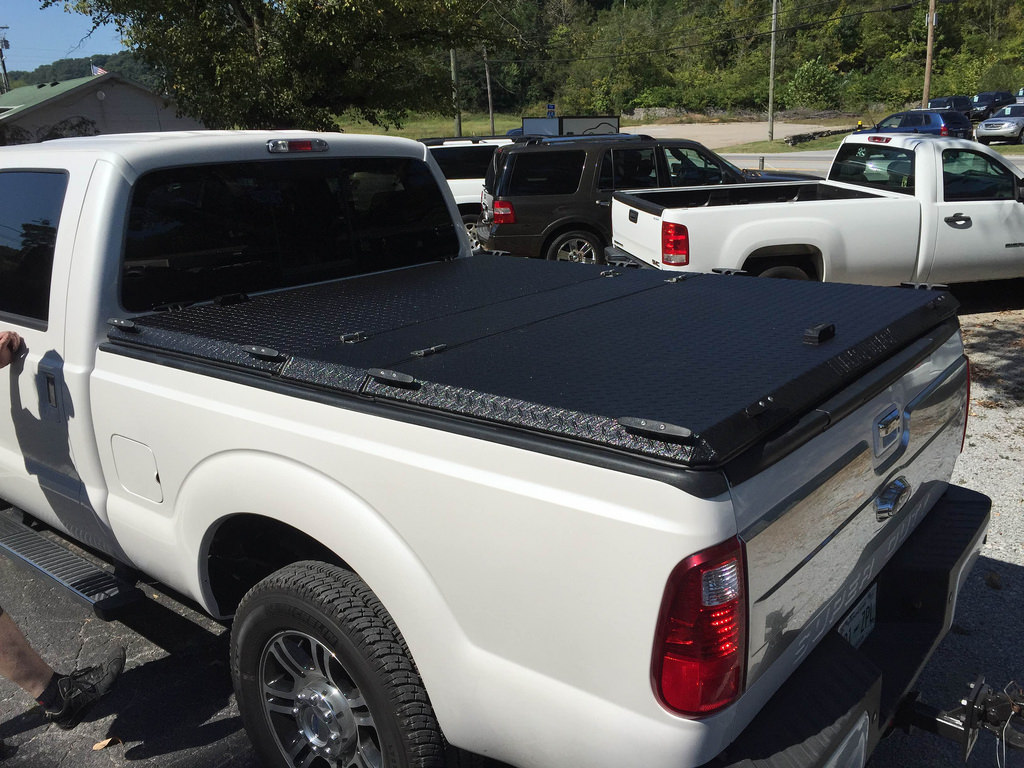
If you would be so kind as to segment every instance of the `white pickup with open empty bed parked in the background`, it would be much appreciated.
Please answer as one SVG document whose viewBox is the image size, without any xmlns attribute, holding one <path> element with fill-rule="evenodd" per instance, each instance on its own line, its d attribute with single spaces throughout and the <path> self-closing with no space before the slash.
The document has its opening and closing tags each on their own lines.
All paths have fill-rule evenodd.
<svg viewBox="0 0 1024 768">
<path fill-rule="evenodd" d="M 606 259 L 866 285 L 1024 276 L 1022 179 L 974 141 L 854 134 L 826 181 L 615 193 Z"/>
</svg>

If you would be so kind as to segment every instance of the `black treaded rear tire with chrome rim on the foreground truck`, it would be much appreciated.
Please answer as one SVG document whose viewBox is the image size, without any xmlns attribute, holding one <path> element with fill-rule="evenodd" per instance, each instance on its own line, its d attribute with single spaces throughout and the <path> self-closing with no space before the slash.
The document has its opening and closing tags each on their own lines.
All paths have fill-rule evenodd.
<svg viewBox="0 0 1024 768">
<path fill-rule="evenodd" d="M 231 678 L 267 768 L 435 768 L 444 739 L 401 634 L 352 571 L 299 562 L 243 598 Z"/>
</svg>

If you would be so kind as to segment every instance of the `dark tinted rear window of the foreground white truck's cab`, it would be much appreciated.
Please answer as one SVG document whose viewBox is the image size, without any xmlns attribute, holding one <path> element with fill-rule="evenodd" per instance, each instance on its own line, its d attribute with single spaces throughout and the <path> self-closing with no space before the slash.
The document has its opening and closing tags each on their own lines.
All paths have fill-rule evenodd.
<svg viewBox="0 0 1024 768">
<path fill-rule="evenodd" d="M 426 163 L 407 158 L 193 166 L 132 193 L 121 298 L 132 311 L 452 258 Z"/>
</svg>

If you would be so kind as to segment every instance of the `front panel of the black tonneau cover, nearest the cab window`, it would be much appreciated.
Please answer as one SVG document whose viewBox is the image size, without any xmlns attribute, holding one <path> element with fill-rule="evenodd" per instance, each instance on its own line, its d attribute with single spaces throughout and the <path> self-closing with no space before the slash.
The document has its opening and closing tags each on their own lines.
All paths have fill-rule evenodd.
<svg viewBox="0 0 1024 768">
<path fill-rule="evenodd" d="M 366 372 L 353 370 L 337 355 L 324 356 L 324 350 L 340 345 L 342 337 L 371 338 L 479 306 L 601 279 L 593 269 L 566 271 L 557 264 L 540 266 L 526 276 L 509 259 L 430 263 L 268 293 L 248 301 L 156 312 L 136 318 L 133 329 L 112 328 L 109 336 L 123 344 L 266 373 L 280 373 L 288 358 L 293 378 L 356 391 Z M 510 280 L 513 274 L 515 280 Z M 283 358 L 256 358 L 244 349 L 250 345 L 276 350 Z"/>
</svg>

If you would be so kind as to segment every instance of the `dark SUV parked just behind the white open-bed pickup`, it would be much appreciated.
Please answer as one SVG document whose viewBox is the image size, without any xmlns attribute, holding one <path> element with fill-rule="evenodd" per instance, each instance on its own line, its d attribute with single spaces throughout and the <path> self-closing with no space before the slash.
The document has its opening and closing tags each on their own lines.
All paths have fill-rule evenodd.
<svg viewBox="0 0 1024 768">
<path fill-rule="evenodd" d="M 476 224 L 488 251 L 600 261 L 615 189 L 818 178 L 743 171 L 696 141 L 650 136 L 526 137 L 495 151 Z"/>
</svg>

